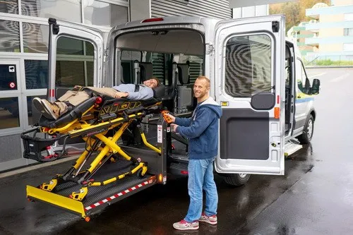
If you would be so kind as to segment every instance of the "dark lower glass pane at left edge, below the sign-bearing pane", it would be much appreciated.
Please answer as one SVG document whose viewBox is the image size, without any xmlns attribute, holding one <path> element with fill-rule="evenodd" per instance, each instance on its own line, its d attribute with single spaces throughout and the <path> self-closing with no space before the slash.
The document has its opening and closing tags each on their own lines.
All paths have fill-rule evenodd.
<svg viewBox="0 0 353 235">
<path fill-rule="evenodd" d="M 18 97 L 0 98 L 0 129 L 20 126 Z"/>
</svg>

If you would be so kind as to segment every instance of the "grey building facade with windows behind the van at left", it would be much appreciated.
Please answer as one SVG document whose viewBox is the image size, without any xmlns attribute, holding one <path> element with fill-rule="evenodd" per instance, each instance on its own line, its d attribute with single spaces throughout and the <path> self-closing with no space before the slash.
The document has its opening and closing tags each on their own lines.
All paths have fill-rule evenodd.
<svg viewBox="0 0 353 235">
<path fill-rule="evenodd" d="M 20 133 L 35 123 L 33 97 L 48 87 L 48 18 L 109 32 L 129 20 L 158 16 L 232 18 L 228 0 L 6 0 L 0 2 L 0 171 L 34 163 L 22 156 Z M 58 40 L 56 85 L 92 85 L 93 46 Z"/>
</svg>

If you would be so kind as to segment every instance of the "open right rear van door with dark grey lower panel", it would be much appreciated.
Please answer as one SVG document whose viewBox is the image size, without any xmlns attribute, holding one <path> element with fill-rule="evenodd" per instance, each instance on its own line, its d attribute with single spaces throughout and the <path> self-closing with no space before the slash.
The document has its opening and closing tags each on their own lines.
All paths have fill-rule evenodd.
<svg viewBox="0 0 353 235">
<path fill-rule="evenodd" d="M 216 171 L 284 174 L 285 17 L 218 23 L 215 68 L 223 111 Z"/>
</svg>

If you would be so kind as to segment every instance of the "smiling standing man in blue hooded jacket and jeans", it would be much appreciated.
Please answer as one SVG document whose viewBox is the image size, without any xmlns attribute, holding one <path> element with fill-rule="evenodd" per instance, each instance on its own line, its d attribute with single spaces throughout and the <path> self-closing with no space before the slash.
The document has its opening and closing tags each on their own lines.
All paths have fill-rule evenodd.
<svg viewBox="0 0 353 235">
<path fill-rule="evenodd" d="M 209 95 L 210 80 L 205 76 L 196 79 L 193 92 L 198 100 L 196 109 L 189 119 L 169 117 L 175 124 L 172 130 L 189 138 L 188 188 L 189 210 L 184 219 L 174 223 L 174 229 L 195 230 L 198 222 L 217 224 L 218 195 L 213 179 L 213 162 L 218 153 L 219 119 L 222 109 Z M 203 190 L 206 193 L 205 211 Z"/>
</svg>

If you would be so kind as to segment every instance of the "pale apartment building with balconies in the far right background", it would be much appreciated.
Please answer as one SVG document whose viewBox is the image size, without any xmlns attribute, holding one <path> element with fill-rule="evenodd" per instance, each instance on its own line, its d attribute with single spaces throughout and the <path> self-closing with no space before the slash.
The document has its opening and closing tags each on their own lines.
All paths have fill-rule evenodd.
<svg viewBox="0 0 353 235">
<path fill-rule="evenodd" d="M 352 64 L 353 0 L 335 0 L 333 6 L 316 4 L 306 9 L 306 16 L 313 18 L 305 25 L 306 30 L 317 35 L 305 40 L 306 45 L 317 48 L 306 54 L 306 60 Z"/>
</svg>

